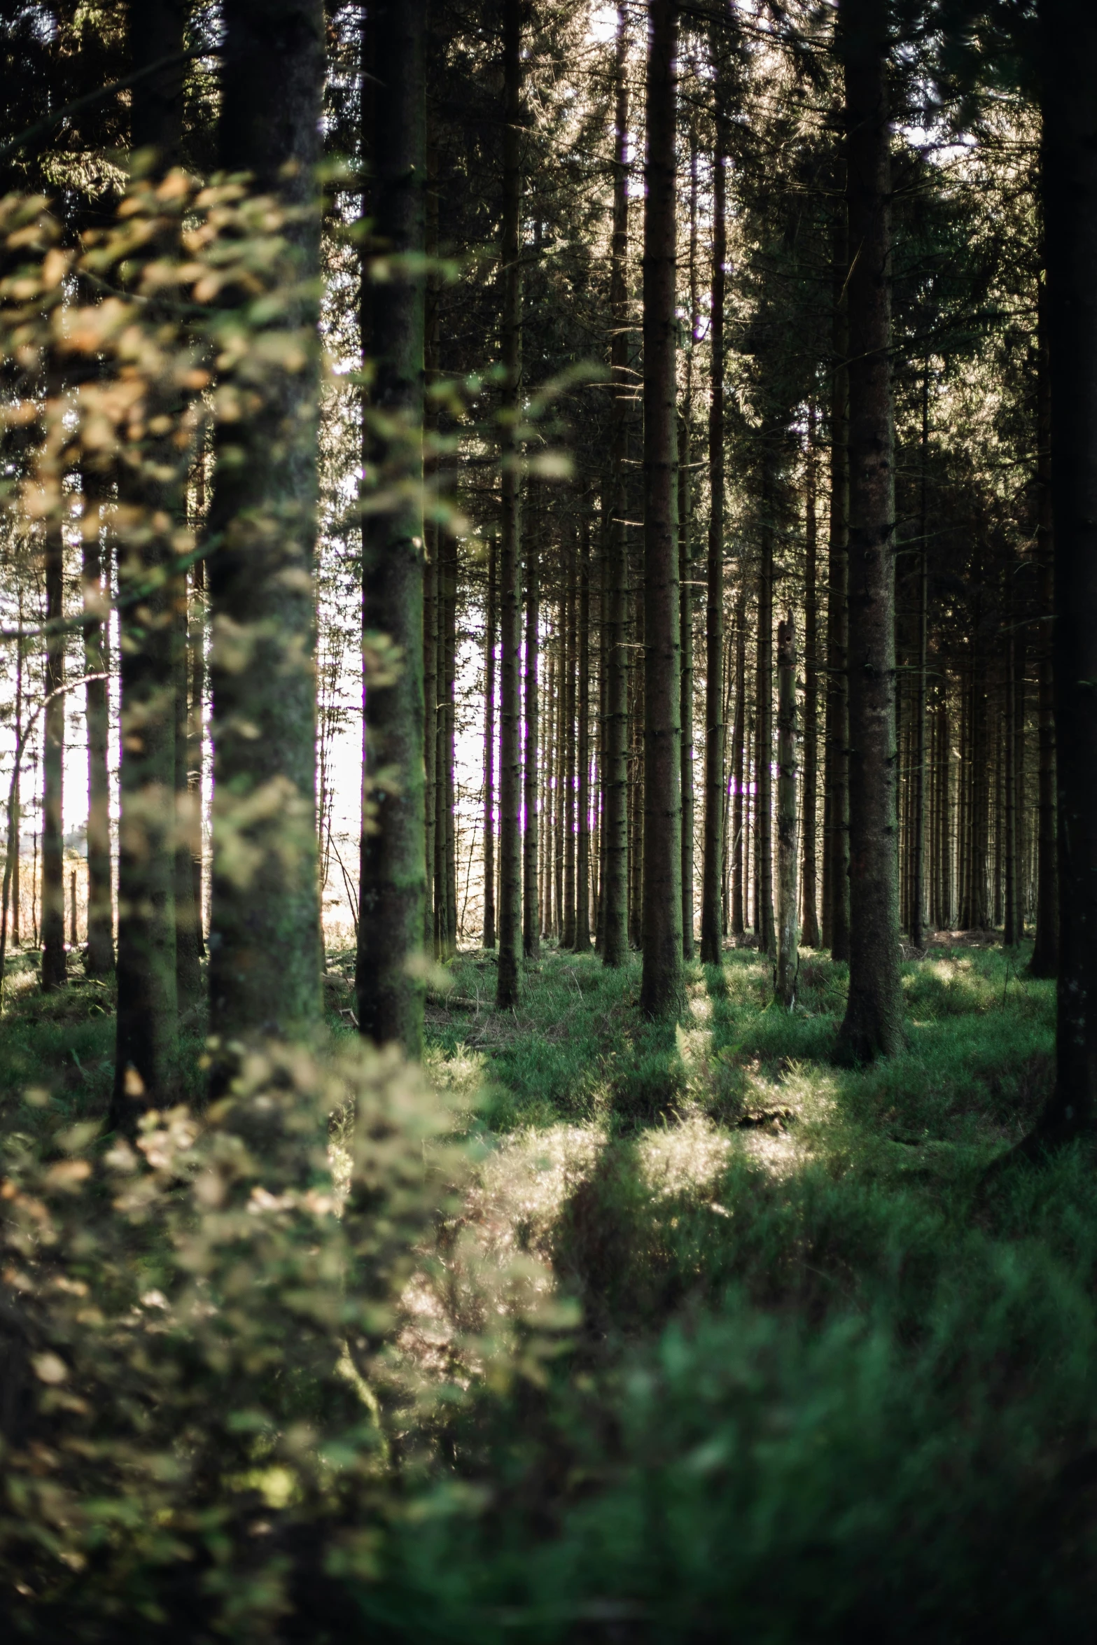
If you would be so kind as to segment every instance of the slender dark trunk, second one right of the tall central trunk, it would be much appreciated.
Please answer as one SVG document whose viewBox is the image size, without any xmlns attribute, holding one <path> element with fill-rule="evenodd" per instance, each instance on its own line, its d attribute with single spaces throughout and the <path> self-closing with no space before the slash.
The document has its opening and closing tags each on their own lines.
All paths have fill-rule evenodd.
<svg viewBox="0 0 1097 1645">
<path fill-rule="evenodd" d="M 719 92 L 717 92 L 719 95 Z M 712 309 L 709 319 L 709 564 L 704 668 L 704 859 L 701 869 L 701 959 L 724 957 L 724 294 L 727 266 L 727 135 L 717 112 L 712 153 Z"/>
</svg>

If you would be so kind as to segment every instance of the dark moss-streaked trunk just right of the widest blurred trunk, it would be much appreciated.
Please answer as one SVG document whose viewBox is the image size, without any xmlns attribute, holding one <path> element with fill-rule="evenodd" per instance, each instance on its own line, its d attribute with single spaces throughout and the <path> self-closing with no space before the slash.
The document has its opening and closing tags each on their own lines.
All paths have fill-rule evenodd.
<svg viewBox="0 0 1097 1645">
<path fill-rule="evenodd" d="M 373 28 L 373 243 L 393 255 L 370 291 L 372 464 L 396 502 L 362 531 L 363 656 L 372 633 L 401 653 L 380 681 L 363 676 L 363 770 L 373 804 L 360 836 L 355 997 L 359 1030 L 377 1045 L 423 1051 L 426 796 L 423 765 L 423 373 L 424 276 L 401 258 L 426 245 L 426 0 L 382 0 Z M 363 283 L 370 280 L 363 266 Z M 385 773 L 382 781 L 377 776 Z"/>
</svg>

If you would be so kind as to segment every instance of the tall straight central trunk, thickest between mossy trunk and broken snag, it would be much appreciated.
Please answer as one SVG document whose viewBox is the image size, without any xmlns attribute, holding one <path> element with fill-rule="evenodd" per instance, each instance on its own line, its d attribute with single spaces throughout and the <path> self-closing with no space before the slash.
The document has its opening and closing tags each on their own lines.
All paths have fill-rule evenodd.
<svg viewBox="0 0 1097 1645">
<path fill-rule="evenodd" d="M 651 0 L 648 33 L 646 201 L 643 219 L 643 975 L 640 1007 L 681 1010 L 681 630 L 674 441 L 676 258 L 674 0 Z"/>
</svg>

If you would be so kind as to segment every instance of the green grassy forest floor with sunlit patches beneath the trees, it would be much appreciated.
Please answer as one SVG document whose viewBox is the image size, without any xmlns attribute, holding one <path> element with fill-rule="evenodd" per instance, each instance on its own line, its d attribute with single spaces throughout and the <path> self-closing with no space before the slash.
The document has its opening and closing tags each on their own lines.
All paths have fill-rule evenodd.
<svg viewBox="0 0 1097 1645">
<path fill-rule="evenodd" d="M 411 1637 L 510 1638 L 484 1622 L 507 1607 L 523 1638 L 660 1645 L 732 1615 L 789 1645 L 1090 1615 L 1097 1173 L 1064 1152 L 987 1178 L 1053 1077 L 1054 985 L 1025 961 L 960 939 L 906 961 L 906 1050 L 849 1069 L 822 954 L 791 1012 L 757 951 L 689 966 L 678 1026 L 640 1017 L 638 961 L 549 946 L 500 1015 L 493 956 L 457 956 L 426 1069 L 479 1138 L 464 1219 L 541 1267 L 572 1332 L 533 1392 L 457 1418 L 480 1507 L 411 1525 Z M 350 962 L 329 956 L 334 1033 Z M 100 1115 L 112 1041 L 107 989 L 44 1000 L 16 956 L 0 1147 Z"/>
</svg>

